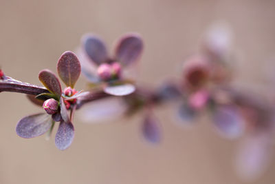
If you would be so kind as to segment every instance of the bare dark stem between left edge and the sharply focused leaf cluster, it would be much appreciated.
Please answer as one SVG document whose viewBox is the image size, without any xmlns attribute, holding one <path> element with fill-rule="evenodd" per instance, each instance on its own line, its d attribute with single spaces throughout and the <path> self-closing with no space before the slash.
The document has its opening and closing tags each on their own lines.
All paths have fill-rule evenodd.
<svg viewBox="0 0 275 184">
<path fill-rule="evenodd" d="M 19 92 L 38 95 L 41 93 L 48 93 L 49 91 L 44 87 L 32 85 L 30 83 L 23 83 L 12 79 L 9 76 L 5 76 L 2 80 L 0 79 L 0 92 Z"/>
</svg>

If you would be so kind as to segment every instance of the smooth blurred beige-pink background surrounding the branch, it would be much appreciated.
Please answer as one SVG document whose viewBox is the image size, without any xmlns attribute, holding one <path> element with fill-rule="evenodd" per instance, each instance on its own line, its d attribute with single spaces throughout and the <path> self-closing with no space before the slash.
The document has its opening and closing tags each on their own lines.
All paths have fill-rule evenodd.
<svg viewBox="0 0 275 184">
<path fill-rule="evenodd" d="M 274 10 L 275 1 L 268 0 L 1 0 L 0 64 L 8 76 L 40 85 L 39 71 L 56 72 L 57 59 L 65 50 L 76 50 L 83 34 L 99 34 L 111 48 L 124 32 L 140 32 L 145 50 L 138 81 L 157 85 L 167 78 L 179 78 L 182 62 L 197 51 L 209 26 L 223 21 L 234 32 L 238 83 L 259 92 L 272 90 L 265 69 L 274 65 Z M 84 86 L 83 79 L 77 88 Z M 50 141 L 45 136 L 17 136 L 19 119 L 42 111 L 25 95 L 3 92 L 0 101 L 0 183 L 275 181 L 273 160 L 261 176 L 243 181 L 235 167 L 240 140 L 223 139 L 204 119 L 188 130 L 180 128 L 170 119 L 169 108 L 155 112 L 164 132 L 159 145 L 151 146 L 141 138 L 140 116 L 102 124 L 76 119 L 74 143 L 60 151 L 54 136 Z"/>
</svg>

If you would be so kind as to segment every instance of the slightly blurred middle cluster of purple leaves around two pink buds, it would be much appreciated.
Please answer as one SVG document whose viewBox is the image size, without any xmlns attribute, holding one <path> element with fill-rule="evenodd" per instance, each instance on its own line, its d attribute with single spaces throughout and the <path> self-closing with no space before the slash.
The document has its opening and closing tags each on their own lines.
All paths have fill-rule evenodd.
<svg viewBox="0 0 275 184">
<path fill-rule="evenodd" d="M 124 68 L 136 63 L 143 50 L 139 34 L 125 34 L 115 43 L 114 56 L 110 56 L 104 41 L 94 34 L 83 37 L 80 59 L 83 74 L 94 87 L 102 87 L 107 94 L 124 96 L 135 91 L 135 85 L 124 79 Z M 94 72 L 96 69 L 96 72 Z"/>
</svg>

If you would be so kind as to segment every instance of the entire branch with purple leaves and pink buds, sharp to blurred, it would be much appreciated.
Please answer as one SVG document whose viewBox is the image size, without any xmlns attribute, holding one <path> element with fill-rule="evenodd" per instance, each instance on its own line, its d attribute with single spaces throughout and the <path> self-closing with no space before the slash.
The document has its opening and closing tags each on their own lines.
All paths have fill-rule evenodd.
<svg viewBox="0 0 275 184">
<path fill-rule="evenodd" d="M 263 170 L 270 158 L 268 150 L 275 132 L 274 104 L 232 85 L 234 75 L 228 34 L 212 32 L 201 45 L 199 53 L 184 62 L 181 79 L 162 83 L 159 88 L 148 88 L 136 85 L 124 71 L 137 63 L 142 55 L 144 43 L 139 34 L 128 33 L 120 37 L 115 42 L 113 55 L 109 54 L 100 37 L 86 34 L 77 52 L 78 57 L 67 51 L 58 59 L 57 72 L 66 85 L 64 90 L 50 70 L 39 72 L 39 80 L 45 86 L 41 87 L 12 79 L 0 69 L 0 92 L 27 94 L 32 103 L 43 107 L 45 112 L 23 117 L 16 132 L 23 138 L 45 133 L 50 136 L 57 122 L 55 144 L 60 150 L 67 149 L 74 139 L 72 122 L 76 110 L 94 105 L 96 101 L 119 99 L 120 103 L 102 103 L 104 105 L 100 108 L 88 108 L 85 113 L 100 110 L 104 112 L 102 116 L 113 119 L 120 108 L 127 117 L 143 111 L 140 132 L 150 143 L 160 143 L 164 132 L 154 113 L 158 106 L 169 102 L 179 104 L 177 117 L 181 123 L 189 124 L 207 112 L 215 130 L 225 138 L 235 139 L 246 133 L 248 139 L 240 148 L 238 165 L 241 172 L 244 171 L 243 175 L 254 176 Z M 80 73 L 88 80 L 85 92 L 74 89 Z M 110 108 L 115 111 L 108 110 Z"/>
</svg>

